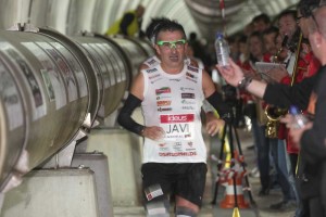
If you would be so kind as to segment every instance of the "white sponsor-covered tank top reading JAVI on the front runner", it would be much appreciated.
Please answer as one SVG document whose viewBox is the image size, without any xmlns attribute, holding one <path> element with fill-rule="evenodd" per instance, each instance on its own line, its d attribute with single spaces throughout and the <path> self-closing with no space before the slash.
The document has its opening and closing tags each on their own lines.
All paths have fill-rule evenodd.
<svg viewBox="0 0 326 217">
<path fill-rule="evenodd" d="M 141 73 L 145 125 L 161 126 L 165 131 L 160 141 L 145 138 L 143 163 L 205 163 L 200 116 L 202 69 L 185 64 L 179 74 L 171 75 L 156 65 Z"/>
</svg>

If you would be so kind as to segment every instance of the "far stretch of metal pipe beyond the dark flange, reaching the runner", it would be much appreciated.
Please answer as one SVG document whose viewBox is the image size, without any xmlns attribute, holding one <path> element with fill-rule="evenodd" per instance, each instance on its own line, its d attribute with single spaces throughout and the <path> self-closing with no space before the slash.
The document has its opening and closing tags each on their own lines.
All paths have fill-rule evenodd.
<svg viewBox="0 0 326 217">
<path fill-rule="evenodd" d="M 117 108 L 133 77 L 138 73 L 139 65 L 146 56 L 153 55 L 154 51 L 149 42 L 129 37 L 109 38 L 99 34 L 82 34 L 72 39 L 100 66 L 104 98 L 110 99 L 103 101 L 102 112 L 103 117 L 106 117 Z"/>
</svg>

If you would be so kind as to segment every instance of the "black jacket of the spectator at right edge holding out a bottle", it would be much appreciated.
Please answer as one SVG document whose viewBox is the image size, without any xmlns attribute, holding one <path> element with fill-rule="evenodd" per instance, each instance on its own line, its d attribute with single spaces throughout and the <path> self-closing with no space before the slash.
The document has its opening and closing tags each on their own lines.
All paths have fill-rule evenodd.
<svg viewBox="0 0 326 217">
<path fill-rule="evenodd" d="M 317 97 L 314 126 L 303 133 L 300 141 L 298 177 L 302 199 L 321 195 L 321 183 L 324 182 L 321 177 L 322 164 L 326 162 L 326 66 L 292 87 L 281 84 L 267 85 L 263 97 L 267 103 L 284 108 L 297 105 L 306 110 L 311 95 Z"/>
</svg>

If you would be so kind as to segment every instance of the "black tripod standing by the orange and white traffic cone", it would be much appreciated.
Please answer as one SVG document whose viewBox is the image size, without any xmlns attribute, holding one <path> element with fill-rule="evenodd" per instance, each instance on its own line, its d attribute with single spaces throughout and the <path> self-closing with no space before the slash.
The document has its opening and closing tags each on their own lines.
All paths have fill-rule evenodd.
<svg viewBox="0 0 326 217">
<path fill-rule="evenodd" d="M 225 126 L 224 126 L 224 130 L 223 130 L 223 135 L 222 135 L 222 139 L 221 139 L 221 142 L 222 142 L 221 151 L 220 151 L 220 156 L 218 156 L 218 162 L 217 162 L 217 176 L 220 176 L 220 171 L 221 171 L 222 166 L 223 166 L 223 151 L 224 151 L 224 148 L 225 148 L 226 135 L 228 135 L 228 143 L 229 143 L 229 149 L 230 149 L 230 153 L 231 153 L 230 168 L 233 168 L 235 166 L 234 136 L 235 136 L 236 142 L 237 142 L 237 148 L 238 148 L 239 155 L 240 155 L 240 157 L 242 157 L 242 150 L 241 150 L 239 135 L 238 135 L 238 131 L 237 131 L 236 127 L 233 125 L 233 120 L 234 120 L 234 115 L 230 115 L 230 118 L 228 119 L 228 122 L 225 123 Z M 240 161 L 240 163 L 241 163 L 242 169 L 246 170 L 244 161 Z M 234 182 L 234 192 L 235 192 L 235 195 L 237 195 L 236 176 L 233 176 L 233 179 L 234 179 L 233 180 L 233 182 Z M 221 179 L 218 178 L 215 182 L 215 190 L 214 190 L 214 195 L 213 195 L 213 201 L 212 201 L 213 205 L 216 204 L 220 180 Z M 251 190 L 250 190 L 249 180 L 248 180 L 247 176 L 244 176 L 244 180 L 246 180 L 246 187 L 248 189 L 250 204 L 255 205 L 255 202 L 252 197 L 252 193 L 251 193 Z M 235 196 L 235 206 L 238 207 L 237 196 Z"/>
</svg>

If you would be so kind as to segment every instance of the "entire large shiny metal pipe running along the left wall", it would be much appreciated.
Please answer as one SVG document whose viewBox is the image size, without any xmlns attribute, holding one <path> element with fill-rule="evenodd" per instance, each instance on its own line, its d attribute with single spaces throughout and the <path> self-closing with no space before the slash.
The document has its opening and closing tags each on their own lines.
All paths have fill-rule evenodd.
<svg viewBox="0 0 326 217">
<path fill-rule="evenodd" d="M 104 117 L 116 110 L 150 52 L 130 39 L 16 29 L 0 30 L 0 192 L 91 127 L 101 107 Z"/>
</svg>

